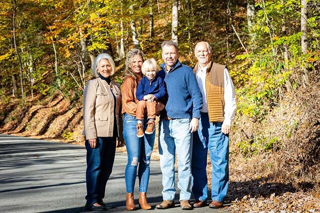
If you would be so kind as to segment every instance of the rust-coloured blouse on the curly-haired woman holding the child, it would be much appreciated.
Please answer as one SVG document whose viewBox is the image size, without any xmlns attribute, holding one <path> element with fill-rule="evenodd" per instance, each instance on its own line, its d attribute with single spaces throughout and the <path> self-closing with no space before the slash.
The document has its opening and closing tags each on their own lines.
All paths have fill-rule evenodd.
<svg viewBox="0 0 320 213">
<path fill-rule="evenodd" d="M 121 94 L 122 94 L 122 114 L 128 113 L 132 116 L 135 116 L 136 104 L 138 99 L 136 98 L 135 91 L 136 87 L 139 84 L 142 75 L 134 73 L 135 79 L 128 75 L 124 78 Z"/>
</svg>

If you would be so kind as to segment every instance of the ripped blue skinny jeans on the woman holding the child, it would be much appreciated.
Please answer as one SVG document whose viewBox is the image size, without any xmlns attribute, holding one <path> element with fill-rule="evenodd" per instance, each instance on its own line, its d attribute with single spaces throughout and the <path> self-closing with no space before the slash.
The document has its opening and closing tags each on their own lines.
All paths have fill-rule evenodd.
<svg viewBox="0 0 320 213">
<path fill-rule="evenodd" d="M 136 136 L 137 120 L 127 113 L 123 114 L 123 137 L 125 140 L 128 162 L 125 167 L 125 187 L 127 193 L 134 189 L 136 170 L 138 170 L 139 192 L 146 192 L 150 175 L 150 157 L 154 144 L 155 131 L 152 134 L 144 134 L 144 137 Z M 147 120 L 144 120 L 144 130 Z M 137 169 L 137 167 L 139 168 Z"/>
</svg>

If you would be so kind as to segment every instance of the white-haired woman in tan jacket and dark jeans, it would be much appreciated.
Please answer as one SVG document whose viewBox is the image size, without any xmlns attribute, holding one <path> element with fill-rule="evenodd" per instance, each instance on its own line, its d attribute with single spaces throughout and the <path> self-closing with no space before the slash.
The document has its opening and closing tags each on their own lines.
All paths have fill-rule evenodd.
<svg viewBox="0 0 320 213">
<path fill-rule="evenodd" d="M 120 116 L 120 85 L 111 80 L 114 62 L 110 55 L 99 54 L 93 63 L 95 79 L 83 91 L 83 135 L 86 148 L 86 210 L 106 210 L 105 185 L 111 174 L 116 138 L 123 144 Z"/>
</svg>

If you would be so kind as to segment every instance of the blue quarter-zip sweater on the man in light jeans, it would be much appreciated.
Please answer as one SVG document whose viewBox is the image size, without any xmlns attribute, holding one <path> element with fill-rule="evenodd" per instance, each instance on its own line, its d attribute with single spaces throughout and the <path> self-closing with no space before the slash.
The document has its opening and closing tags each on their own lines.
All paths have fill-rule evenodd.
<svg viewBox="0 0 320 213">
<path fill-rule="evenodd" d="M 179 61 L 171 67 L 169 73 L 162 63 L 158 75 L 165 82 L 167 102 L 165 111 L 171 118 L 200 118 L 202 95 L 193 70 Z"/>
</svg>

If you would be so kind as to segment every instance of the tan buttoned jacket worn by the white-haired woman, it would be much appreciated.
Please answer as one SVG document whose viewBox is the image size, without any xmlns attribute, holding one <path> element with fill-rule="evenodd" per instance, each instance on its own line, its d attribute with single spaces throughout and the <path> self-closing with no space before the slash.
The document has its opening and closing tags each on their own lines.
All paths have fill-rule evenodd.
<svg viewBox="0 0 320 213">
<path fill-rule="evenodd" d="M 115 96 L 115 103 L 113 95 Z M 101 78 L 89 80 L 83 91 L 83 132 L 85 139 L 113 136 L 115 117 L 118 139 L 122 136 L 121 92 L 120 85 L 111 80 L 110 85 Z"/>
</svg>

